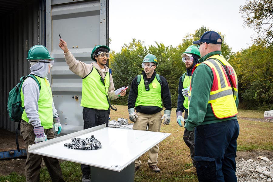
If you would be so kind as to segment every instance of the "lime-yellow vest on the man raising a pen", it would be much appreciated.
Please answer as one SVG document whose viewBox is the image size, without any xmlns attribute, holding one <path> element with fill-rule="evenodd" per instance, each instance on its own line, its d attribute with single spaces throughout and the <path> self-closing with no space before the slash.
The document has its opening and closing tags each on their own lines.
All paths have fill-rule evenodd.
<svg viewBox="0 0 273 182">
<path fill-rule="evenodd" d="M 108 93 L 108 88 L 110 86 L 109 72 L 106 72 L 104 80 L 105 87 L 101 82 L 101 76 L 95 67 L 93 67 L 88 76 L 83 78 L 81 106 L 99 110 L 109 109 L 109 104 L 106 99 L 106 94 Z"/>
</svg>

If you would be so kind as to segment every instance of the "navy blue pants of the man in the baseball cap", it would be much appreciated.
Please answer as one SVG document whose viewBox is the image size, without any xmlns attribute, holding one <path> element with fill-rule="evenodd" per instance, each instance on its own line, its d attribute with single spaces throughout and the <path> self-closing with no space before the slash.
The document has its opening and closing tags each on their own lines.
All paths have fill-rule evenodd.
<svg viewBox="0 0 273 182">
<path fill-rule="evenodd" d="M 237 182 L 237 120 L 197 126 L 195 157 L 199 182 Z"/>
</svg>

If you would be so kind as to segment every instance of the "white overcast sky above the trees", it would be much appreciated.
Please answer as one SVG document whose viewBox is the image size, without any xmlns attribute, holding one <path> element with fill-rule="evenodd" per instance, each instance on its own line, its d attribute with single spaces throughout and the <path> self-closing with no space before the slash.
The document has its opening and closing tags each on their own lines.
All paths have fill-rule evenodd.
<svg viewBox="0 0 273 182">
<path fill-rule="evenodd" d="M 110 49 L 120 52 L 133 38 L 145 45 L 178 46 L 187 33 L 202 25 L 225 35 L 237 52 L 249 47 L 254 30 L 244 28 L 240 5 L 246 0 L 112 0 L 110 1 Z"/>
</svg>

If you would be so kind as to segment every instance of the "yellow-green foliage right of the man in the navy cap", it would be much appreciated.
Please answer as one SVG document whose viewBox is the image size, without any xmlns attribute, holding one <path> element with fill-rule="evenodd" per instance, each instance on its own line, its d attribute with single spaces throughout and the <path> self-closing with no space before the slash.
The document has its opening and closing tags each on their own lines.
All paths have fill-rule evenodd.
<svg viewBox="0 0 273 182">
<path fill-rule="evenodd" d="M 273 109 L 273 46 L 252 45 L 231 56 L 244 108 Z"/>
</svg>

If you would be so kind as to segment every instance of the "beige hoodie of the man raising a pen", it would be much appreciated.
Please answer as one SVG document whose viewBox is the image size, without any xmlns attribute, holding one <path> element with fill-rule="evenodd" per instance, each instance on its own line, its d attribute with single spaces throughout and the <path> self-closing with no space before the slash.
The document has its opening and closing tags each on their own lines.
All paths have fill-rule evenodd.
<svg viewBox="0 0 273 182">
<path fill-rule="evenodd" d="M 68 51 L 64 53 L 66 64 L 69 66 L 69 69 L 75 73 L 76 75 L 85 78 L 93 69 L 98 70 L 99 74 L 102 76 L 102 78 L 105 77 L 106 72 L 109 72 L 109 68 L 107 66 L 104 66 L 105 71 L 102 72 L 101 68 L 96 62 L 92 62 L 91 64 L 86 64 L 84 62 L 76 60 L 76 58 L 73 56 L 73 54 Z M 113 83 L 112 75 L 110 74 L 110 86 L 108 88 L 108 97 L 112 100 L 118 98 L 118 95 L 115 95 L 115 87 Z"/>
</svg>

